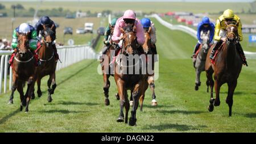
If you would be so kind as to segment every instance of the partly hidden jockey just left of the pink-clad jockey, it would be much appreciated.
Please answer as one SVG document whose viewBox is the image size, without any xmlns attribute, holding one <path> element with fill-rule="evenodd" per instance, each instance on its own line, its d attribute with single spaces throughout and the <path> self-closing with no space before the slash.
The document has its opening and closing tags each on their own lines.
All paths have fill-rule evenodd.
<svg viewBox="0 0 256 144">
<path fill-rule="evenodd" d="M 104 47 L 101 50 L 101 55 L 100 55 L 100 60 L 102 60 L 102 54 L 106 54 L 107 50 L 109 49 L 109 44 L 111 43 L 111 28 L 115 27 L 115 23 L 117 22 L 117 18 L 114 18 L 111 20 L 110 24 L 108 27 L 105 29 L 105 34 L 104 34 Z"/>
</svg>

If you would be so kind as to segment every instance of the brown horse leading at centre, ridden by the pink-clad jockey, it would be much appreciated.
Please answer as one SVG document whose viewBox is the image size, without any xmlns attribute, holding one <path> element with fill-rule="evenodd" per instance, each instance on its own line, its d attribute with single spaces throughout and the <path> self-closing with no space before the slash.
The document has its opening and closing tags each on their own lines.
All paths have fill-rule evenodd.
<svg viewBox="0 0 256 144">
<path fill-rule="evenodd" d="M 135 67 L 135 65 L 127 65 L 130 63 L 130 57 L 138 56 L 138 41 L 136 36 L 136 27 L 126 27 L 125 29 L 120 28 L 123 33 L 122 49 L 119 57 L 121 57 L 121 62 L 115 63 L 115 83 L 118 87 L 118 94 L 120 98 L 120 113 L 117 122 L 123 122 L 123 107 L 125 106 L 125 123 L 127 124 L 128 112 L 129 112 L 129 100 L 127 95 L 127 90 L 131 90 L 131 95 L 133 96 L 133 107 L 131 109 L 131 117 L 129 119 L 129 125 L 134 126 L 136 124 L 136 111 L 139 104 L 139 97 L 144 91 L 143 84 L 146 82 L 145 74 L 135 74 L 137 69 L 133 71 L 127 71 L 127 67 Z M 138 56 L 139 57 L 139 56 Z M 134 59 L 133 59 L 134 60 Z M 139 63 L 139 62 L 137 62 Z M 126 67 L 127 66 L 127 67 Z M 130 70 L 130 69 L 129 69 Z M 135 71 L 134 71 L 135 70 Z M 132 73 L 132 74 L 130 74 Z"/>
</svg>

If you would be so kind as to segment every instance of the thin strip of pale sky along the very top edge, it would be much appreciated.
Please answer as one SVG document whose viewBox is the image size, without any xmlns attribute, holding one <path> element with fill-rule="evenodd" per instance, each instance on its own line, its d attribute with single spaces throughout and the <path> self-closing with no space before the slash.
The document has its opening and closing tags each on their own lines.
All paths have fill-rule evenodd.
<svg viewBox="0 0 256 144">
<path fill-rule="evenodd" d="M 39 0 L 0 0 L 0 2 L 3 1 L 39 1 Z M 71 1 L 71 0 L 43 0 L 43 1 Z M 113 2 L 252 2 L 254 0 L 212 0 L 212 1 L 206 1 L 206 0 L 73 0 L 73 1 L 93 1 L 93 2 L 106 2 L 106 1 L 113 1 Z"/>
</svg>

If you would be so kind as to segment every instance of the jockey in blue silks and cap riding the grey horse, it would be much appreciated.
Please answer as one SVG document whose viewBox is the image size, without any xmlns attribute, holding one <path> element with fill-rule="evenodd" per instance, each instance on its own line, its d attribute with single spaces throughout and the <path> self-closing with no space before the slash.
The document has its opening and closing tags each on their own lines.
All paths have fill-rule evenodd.
<svg viewBox="0 0 256 144">
<path fill-rule="evenodd" d="M 194 48 L 194 51 L 193 51 L 193 57 L 196 57 L 196 52 L 197 50 L 199 49 L 199 46 L 201 45 L 202 43 L 202 39 L 201 39 L 201 31 L 203 32 L 207 32 L 207 31 L 210 31 L 210 45 L 212 45 L 214 42 L 213 42 L 213 36 L 214 36 L 214 24 L 212 22 L 210 22 L 209 18 L 207 16 L 204 16 L 204 18 L 202 19 L 202 22 L 200 22 L 197 26 L 197 44 Z"/>
</svg>

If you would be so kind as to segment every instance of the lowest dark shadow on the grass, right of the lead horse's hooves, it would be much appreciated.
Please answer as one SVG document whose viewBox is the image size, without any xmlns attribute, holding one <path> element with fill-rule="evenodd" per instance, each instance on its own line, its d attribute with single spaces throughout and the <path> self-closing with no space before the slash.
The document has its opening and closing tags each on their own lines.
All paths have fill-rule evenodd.
<svg viewBox="0 0 256 144">
<path fill-rule="evenodd" d="M 200 130 L 202 128 L 207 128 L 206 125 L 192 126 L 192 125 L 180 125 L 180 124 L 159 124 L 159 125 L 147 125 L 143 129 L 157 129 L 157 130 L 166 130 L 166 129 L 176 129 L 179 131 L 188 131 L 188 130 Z"/>
</svg>

